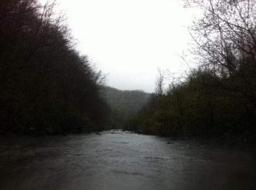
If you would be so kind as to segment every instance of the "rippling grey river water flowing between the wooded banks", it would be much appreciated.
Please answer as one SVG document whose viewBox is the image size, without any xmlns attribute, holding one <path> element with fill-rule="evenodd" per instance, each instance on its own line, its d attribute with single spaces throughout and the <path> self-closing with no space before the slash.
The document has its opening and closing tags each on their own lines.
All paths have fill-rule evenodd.
<svg viewBox="0 0 256 190">
<path fill-rule="evenodd" d="M 1 137 L 0 151 L 0 189 L 256 189 L 252 154 L 191 140 L 116 130 Z"/>
</svg>

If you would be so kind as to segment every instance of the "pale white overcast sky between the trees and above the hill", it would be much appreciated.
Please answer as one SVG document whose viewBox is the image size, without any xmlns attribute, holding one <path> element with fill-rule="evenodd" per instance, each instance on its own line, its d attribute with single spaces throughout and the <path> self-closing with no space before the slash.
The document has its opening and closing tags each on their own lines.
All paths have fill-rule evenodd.
<svg viewBox="0 0 256 190">
<path fill-rule="evenodd" d="M 41 0 L 42 3 L 46 0 Z M 155 89 L 157 68 L 182 72 L 193 14 L 182 0 L 57 0 L 78 49 L 117 89 Z"/>
</svg>

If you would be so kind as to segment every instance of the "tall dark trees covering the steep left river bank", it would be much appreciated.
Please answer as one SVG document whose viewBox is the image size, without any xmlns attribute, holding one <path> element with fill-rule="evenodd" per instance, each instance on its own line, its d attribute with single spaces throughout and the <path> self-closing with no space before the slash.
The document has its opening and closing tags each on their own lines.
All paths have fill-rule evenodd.
<svg viewBox="0 0 256 190">
<path fill-rule="evenodd" d="M 0 1 L 0 132 L 101 130 L 104 76 L 73 48 L 55 4 Z"/>
</svg>

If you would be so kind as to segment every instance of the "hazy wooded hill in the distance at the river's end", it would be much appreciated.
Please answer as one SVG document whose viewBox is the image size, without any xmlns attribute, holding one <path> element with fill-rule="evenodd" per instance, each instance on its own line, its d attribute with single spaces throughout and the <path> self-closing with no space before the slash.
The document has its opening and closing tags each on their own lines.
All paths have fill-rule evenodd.
<svg viewBox="0 0 256 190">
<path fill-rule="evenodd" d="M 109 124 L 112 129 L 123 128 L 150 98 L 150 94 L 142 90 L 118 90 L 110 86 L 105 87 L 105 95 L 111 108 Z"/>
</svg>

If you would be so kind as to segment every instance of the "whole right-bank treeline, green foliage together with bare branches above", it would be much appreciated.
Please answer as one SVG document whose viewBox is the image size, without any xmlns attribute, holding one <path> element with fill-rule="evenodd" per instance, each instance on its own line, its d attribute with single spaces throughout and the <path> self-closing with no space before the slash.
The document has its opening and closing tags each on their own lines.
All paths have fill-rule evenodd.
<svg viewBox="0 0 256 190">
<path fill-rule="evenodd" d="M 188 1 L 203 9 L 191 27 L 198 68 L 156 93 L 126 129 L 166 136 L 256 139 L 256 6 L 253 1 Z"/>
</svg>

